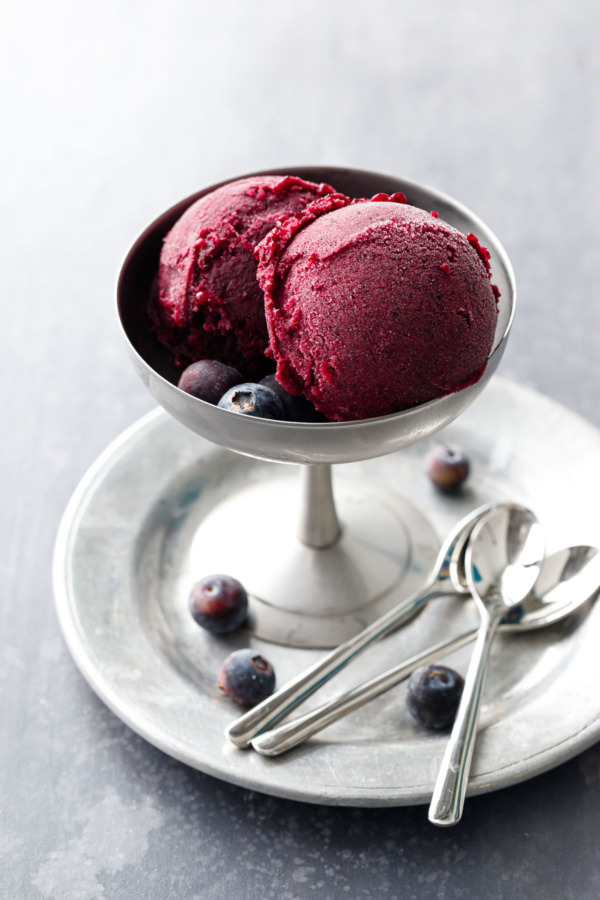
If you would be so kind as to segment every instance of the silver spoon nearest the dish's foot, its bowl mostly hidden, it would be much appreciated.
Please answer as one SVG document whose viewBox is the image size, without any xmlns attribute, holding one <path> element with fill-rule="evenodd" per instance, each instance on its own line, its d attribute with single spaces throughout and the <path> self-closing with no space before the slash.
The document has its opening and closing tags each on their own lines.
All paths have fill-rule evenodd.
<svg viewBox="0 0 600 900">
<path fill-rule="evenodd" d="M 362 650 L 398 628 L 434 597 L 454 596 L 456 593 L 467 594 L 469 587 L 464 558 L 471 531 L 483 516 L 492 510 L 503 508 L 522 509 L 512 504 L 508 506 L 488 504 L 461 519 L 442 544 L 433 572 L 424 588 L 381 616 L 355 637 L 340 644 L 262 703 L 236 719 L 225 731 L 229 740 L 238 747 L 249 747 L 257 734 L 271 728 Z"/>
</svg>

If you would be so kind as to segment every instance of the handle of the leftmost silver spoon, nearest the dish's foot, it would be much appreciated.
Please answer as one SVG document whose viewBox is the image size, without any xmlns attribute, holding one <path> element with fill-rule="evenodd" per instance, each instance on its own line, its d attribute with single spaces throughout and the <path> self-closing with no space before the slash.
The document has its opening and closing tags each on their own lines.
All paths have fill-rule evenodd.
<svg viewBox="0 0 600 900">
<path fill-rule="evenodd" d="M 450 593 L 453 593 L 453 590 L 440 585 L 437 579 L 429 582 L 418 593 L 395 606 L 360 634 L 340 644 L 258 706 L 236 719 L 226 730 L 226 736 L 236 746 L 248 747 L 252 738 L 287 715 L 366 647 L 398 628 L 433 597 Z"/>
</svg>

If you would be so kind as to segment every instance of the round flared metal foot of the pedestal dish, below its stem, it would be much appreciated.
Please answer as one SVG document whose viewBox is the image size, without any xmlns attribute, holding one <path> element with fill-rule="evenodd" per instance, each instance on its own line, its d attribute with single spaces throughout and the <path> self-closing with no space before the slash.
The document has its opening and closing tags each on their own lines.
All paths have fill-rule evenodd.
<svg viewBox="0 0 600 900">
<path fill-rule="evenodd" d="M 256 637 L 335 647 L 421 587 L 439 542 L 413 504 L 376 482 L 334 472 L 342 533 L 315 549 L 297 537 L 297 473 L 271 468 L 269 480 L 212 509 L 190 548 L 194 577 L 225 572 L 246 587 Z"/>
</svg>

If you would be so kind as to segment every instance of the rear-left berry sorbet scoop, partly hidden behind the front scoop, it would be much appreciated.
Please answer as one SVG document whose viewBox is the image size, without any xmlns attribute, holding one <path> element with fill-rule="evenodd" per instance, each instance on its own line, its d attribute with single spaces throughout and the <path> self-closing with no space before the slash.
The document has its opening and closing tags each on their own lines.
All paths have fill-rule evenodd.
<svg viewBox="0 0 600 900">
<path fill-rule="evenodd" d="M 253 251 L 283 217 L 333 192 L 293 176 L 244 178 L 197 200 L 167 235 L 151 317 L 179 367 L 216 359 L 260 378 L 272 365 Z"/>
</svg>

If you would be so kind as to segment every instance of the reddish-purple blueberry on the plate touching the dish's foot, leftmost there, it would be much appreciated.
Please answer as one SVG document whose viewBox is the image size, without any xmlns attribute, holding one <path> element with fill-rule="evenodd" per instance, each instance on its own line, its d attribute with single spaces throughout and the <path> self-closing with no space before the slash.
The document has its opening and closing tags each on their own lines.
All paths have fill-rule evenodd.
<svg viewBox="0 0 600 900">
<path fill-rule="evenodd" d="M 246 619 L 248 594 L 230 575 L 209 575 L 196 582 L 189 599 L 194 620 L 212 634 L 230 634 Z"/>
</svg>

